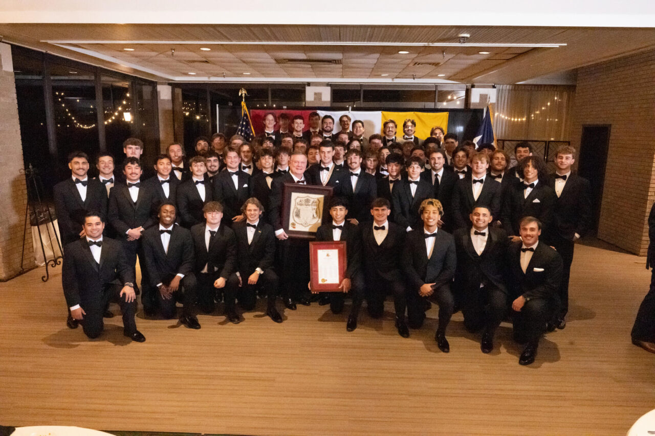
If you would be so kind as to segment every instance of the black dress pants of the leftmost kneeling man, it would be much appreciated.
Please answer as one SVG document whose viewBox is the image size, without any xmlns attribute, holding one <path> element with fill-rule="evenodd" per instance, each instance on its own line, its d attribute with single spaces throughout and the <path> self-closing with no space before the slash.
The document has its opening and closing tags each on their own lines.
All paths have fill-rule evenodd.
<svg viewBox="0 0 655 436">
<path fill-rule="evenodd" d="M 104 321 L 102 318 L 105 312 L 107 302 L 117 302 L 121 306 L 123 330 L 126 334 L 131 335 L 136 331 L 136 300 L 132 302 L 125 301 L 125 295 L 121 297 L 121 285 L 109 285 L 102 291 L 89 295 L 88 293 L 80 296 L 80 307 L 86 312 L 80 321 L 84 334 L 89 338 L 97 338 L 102 333 Z"/>
</svg>

